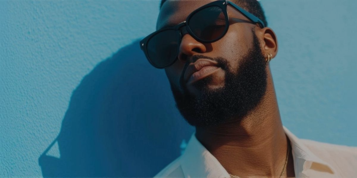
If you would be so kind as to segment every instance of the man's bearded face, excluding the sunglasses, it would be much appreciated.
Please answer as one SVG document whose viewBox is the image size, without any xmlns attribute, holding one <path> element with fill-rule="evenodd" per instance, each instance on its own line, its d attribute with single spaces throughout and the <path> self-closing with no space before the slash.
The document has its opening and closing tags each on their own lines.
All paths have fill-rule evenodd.
<svg viewBox="0 0 357 178">
<path fill-rule="evenodd" d="M 209 2 L 165 2 L 157 28 L 177 25 Z M 230 18 L 247 20 L 230 6 L 227 9 Z M 165 72 L 177 107 L 191 125 L 205 127 L 239 121 L 261 101 L 267 77 L 256 27 L 231 23 L 226 35 L 213 43 L 183 35 L 178 60 Z"/>
</svg>

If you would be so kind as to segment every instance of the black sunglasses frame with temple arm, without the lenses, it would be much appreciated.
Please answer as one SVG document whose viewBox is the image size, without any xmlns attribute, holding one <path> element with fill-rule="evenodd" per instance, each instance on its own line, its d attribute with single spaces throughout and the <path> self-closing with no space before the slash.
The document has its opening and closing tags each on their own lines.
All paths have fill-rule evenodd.
<svg viewBox="0 0 357 178">
<path fill-rule="evenodd" d="M 225 28 L 225 31 L 224 33 L 218 37 L 217 39 L 215 40 L 210 40 L 210 41 L 207 41 L 207 40 L 202 40 L 200 39 L 199 37 L 197 37 L 190 29 L 189 27 L 189 24 L 188 22 L 190 21 L 191 17 L 193 15 L 195 15 L 198 11 L 202 10 L 202 9 L 205 9 L 207 7 L 211 7 L 211 6 L 217 6 L 217 7 L 220 7 L 222 10 L 223 10 L 223 14 L 225 15 L 225 20 L 226 22 L 229 21 L 229 17 L 228 17 L 228 12 L 227 12 L 227 5 L 231 6 L 233 9 L 237 10 L 238 12 L 240 12 L 243 16 L 245 16 L 247 19 L 249 19 L 251 21 L 251 23 L 253 24 L 256 24 L 258 23 L 259 26 L 261 28 L 264 28 L 265 25 L 263 23 L 262 20 L 260 20 L 258 17 L 256 17 L 255 15 L 249 13 L 248 11 L 244 10 L 243 8 L 237 6 L 236 4 L 234 4 L 233 2 L 231 1 L 228 1 L 228 0 L 218 0 L 218 1 L 214 1 L 214 2 L 211 2 L 211 3 L 208 3 L 206 5 L 203 5 L 201 6 L 200 8 L 196 9 L 195 11 L 191 12 L 190 15 L 187 16 L 186 20 L 177 24 L 176 26 L 174 27 L 166 27 L 166 28 L 162 28 L 160 30 L 157 30 L 153 33 L 151 33 L 150 35 L 148 35 L 147 37 L 145 37 L 144 39 L 142 39 L 140 41 L 140 48 L 141 50 L 145 53 L 145 56 L 147 58 L 147 60 L 149 61 L 149 63 L 156 67 L 156 68 L 159 68 L 159 69 L 164 69 L 164 68 L 167 68 L 167 67 L 170 67 L 172 64 L 174 64 L 176 61 L 177 61 L 177 56 L 176 56 L 176 59 L 174 59 L 171 63 L 165 65 L 165 66 L 157 66 L 156 64 L 152 63 L 151 62 L 151 59 L 149 57 L 149 54 L 147 53 L 147 43 L 149 42 L 149 40 L 154 37 L 157 33 L 160 33 L 162 31 L 166 31 L 166 30 L 174 30 L 174 31 L 177 31 L 178 32 L 178 35 L 179 35 L 179 39 L 182 40 L 182 34 L 181 34 L 181 30 L 180 28 L 182 28 L 183 26 L 186 27 L 186 31 L 188 34 L 190 34 L 193 38 L 195 38 L 195 40 L 199 41 L 199 42 L 202 42 L 202 43 L 212 43 L 212 42 L 215 42 L 215 41 L 218 41 L 220 40 L 223 36 L 226 35 L 227 31 L 228 31 L 228 28 L 229 28 L 229 23 L 226 24 L 226 28 Z M 243 22 L 247 22 L 247 21 L 244 21 L 242 20 Z M 178 42 L 178 45 L 180 45 L 181 41 Z M 178 52 L 177 52 L 178 53 Z"/>
</svg>

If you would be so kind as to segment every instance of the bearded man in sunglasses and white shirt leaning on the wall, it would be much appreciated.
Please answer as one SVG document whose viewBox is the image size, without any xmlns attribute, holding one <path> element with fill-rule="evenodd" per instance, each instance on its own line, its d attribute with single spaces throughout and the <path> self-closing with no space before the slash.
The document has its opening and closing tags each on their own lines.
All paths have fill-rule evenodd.
<svg viewBox="0 0 357 178">
<path fill-rule="evenodd" d="M 357 148 L 283 127 L 269 67 L 277 38 L 259 2 L 162 0 L 156 27 L 140 46 L 196 127 L 156 177 L 357 176 Z"/>
</svg>

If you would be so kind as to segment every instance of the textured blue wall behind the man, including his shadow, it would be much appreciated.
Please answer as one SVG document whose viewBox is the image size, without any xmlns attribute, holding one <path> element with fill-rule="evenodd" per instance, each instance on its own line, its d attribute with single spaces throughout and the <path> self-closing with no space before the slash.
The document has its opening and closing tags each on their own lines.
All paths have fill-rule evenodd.
<svg viewBox="0 0 357 178">
<path fill-rule="evenodd" d="M 284 125 L 357 146 L 357 2 L 261 3 L 278 36 Z M 150 177 L 180 155 L 193 128 L 137 41 L 155 30 L 158 8 L 0 1 L 0 177 Z"/>
</svg>

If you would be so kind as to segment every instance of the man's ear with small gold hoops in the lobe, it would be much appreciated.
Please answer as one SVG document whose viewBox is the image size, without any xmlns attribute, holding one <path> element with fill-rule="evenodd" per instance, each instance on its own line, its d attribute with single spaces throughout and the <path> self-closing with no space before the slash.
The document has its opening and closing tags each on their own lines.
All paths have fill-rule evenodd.
<svg viewBox="0 0 357 178">
<path fill-rule="evenodd" d="M 278 41 L 274 31 L 269 28 L 260 28 L 257 32 L 257 37 L 260 40 L 260 45 L 262 49 L 262 53 L 266 56 L 266 54 L 272 54 L 273 58 L 278 53 Z"/>
</svg>

